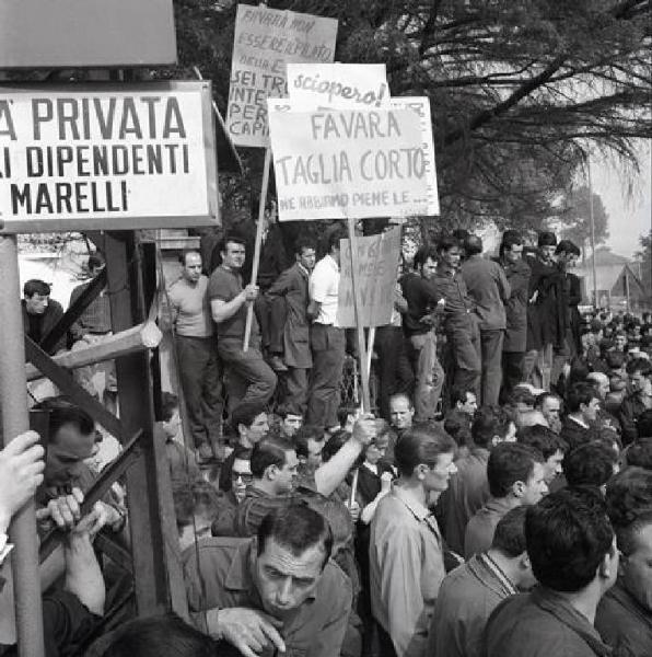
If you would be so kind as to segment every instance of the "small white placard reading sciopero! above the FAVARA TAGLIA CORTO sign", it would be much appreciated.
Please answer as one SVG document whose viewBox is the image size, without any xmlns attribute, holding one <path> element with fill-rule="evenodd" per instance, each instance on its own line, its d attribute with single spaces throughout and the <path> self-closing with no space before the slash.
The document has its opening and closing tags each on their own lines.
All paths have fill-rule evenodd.
<svg viewBox="0 0 652 657">
<path fill-rule="evenodd" d="M 384 64 L 288 64 L 288 95 L 317 107 L 382 107 L 389 101 Z"/>
</svg>

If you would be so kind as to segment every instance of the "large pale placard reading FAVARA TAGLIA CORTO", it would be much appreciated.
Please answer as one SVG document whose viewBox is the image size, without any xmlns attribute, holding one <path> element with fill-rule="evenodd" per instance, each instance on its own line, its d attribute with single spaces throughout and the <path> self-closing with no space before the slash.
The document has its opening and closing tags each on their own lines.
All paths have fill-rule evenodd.
<svg viewBox="0 0 652 657">
<path fill-rule="evenodd" d="M 432 140 L 412 108 L 270 112 L 269 125 L 282 221 L 439 211 Z"/>
</svg>

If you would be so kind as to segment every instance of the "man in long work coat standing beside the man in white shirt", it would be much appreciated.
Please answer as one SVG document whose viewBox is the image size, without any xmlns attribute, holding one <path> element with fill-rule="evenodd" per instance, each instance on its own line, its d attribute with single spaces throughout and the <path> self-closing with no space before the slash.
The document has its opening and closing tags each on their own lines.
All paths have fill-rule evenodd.
<svg viewBox="0 0 652 657">
<path fill-rule="evenodd" d="M 307 318 L 308 278 L 315 267 L 315 245 L 306 239 L 295 246 L 296 262 L 267 290 L 269 301 L 269 353 L 272 367 L 286 371 L 281 400 L 298 414 L 307 404 L 307 374 L 313 366 Z"/>
</svg>

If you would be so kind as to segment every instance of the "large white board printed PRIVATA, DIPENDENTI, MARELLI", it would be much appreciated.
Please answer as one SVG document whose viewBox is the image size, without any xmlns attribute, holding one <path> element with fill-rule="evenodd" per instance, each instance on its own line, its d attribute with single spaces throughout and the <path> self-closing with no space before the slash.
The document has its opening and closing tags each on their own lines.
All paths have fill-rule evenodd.
<svg viewBox="0 0 652 657">
<path fill-rule="evenodd" d="M 209 82 L 0 89 L 7 232 L 218 221 Z"/>
</svg>

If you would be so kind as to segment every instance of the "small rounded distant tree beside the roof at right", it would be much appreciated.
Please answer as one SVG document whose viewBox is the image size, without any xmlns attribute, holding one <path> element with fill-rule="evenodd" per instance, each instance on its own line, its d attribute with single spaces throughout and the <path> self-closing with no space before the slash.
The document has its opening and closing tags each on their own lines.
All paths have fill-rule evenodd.
<svg viewBox="0 0 652 657">
<path fill-rule="evenodd" d="M 561 223 L 561 238 L 571 240 L 585 255 L 591 242 L 591 191 L 585 185 L 571 189 L 559 204 L 558 219 Z M 604 244 L 609 237 L 608 215 L 599 194 L 593 193 L 593 223 L 595 244 Z"/>
</svg>

